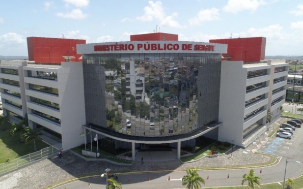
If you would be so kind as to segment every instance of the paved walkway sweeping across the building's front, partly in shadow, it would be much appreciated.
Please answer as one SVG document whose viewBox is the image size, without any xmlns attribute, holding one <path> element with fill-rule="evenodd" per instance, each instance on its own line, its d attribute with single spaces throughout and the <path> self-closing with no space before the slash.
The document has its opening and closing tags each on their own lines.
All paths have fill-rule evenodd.
<svg viewBox="0 0 303 189">
<path fill-rule="evenodd" d="M 283 120 L 279 120 L 283 121 Z M 277 122 L 277 121 L 276 121 Z M 273 123 L 273 127 L 280 124 Z M 265 138 L 265 136 L 264 136 Z M 263 137 L 260 137 L 258 144 L 261 144 Z M 61 159 L 57 156 L 43 160 L 31 166 L 12 172 L 0 177 L 0 188 L 42 188 L 52 183 L 56 183 L 68 178 L 87 174 L 100 174 L 109 168 L 111 172 L 137 172 L 137 171 L 164 171 L 164 170 L 184 170 L 191 167 L 228 167 L 256 165 L 269 162 L 271 158 L 260 153 L 253 153 L 256 145 L 251 144 L 246 149 L 235 147 L 231 157 L 231 151 L 225 155 L 217 157 L 204 157 L 203 159 L 182 164 L 179 160 L 169 162 L 145 162 L 135 161 L 132 166 L 119 166 L 107 162 L 86 162 L 80 157 L 65 152 Z"/>
</svg>

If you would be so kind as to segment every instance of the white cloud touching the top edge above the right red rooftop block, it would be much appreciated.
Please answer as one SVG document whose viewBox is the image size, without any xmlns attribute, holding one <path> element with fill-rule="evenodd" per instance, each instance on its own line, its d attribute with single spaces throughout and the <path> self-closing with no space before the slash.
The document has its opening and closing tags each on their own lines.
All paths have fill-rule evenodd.
<svg viewBox="0 0 303 189">
<path fill-rule="evenodd" d="M 274 2 L 270 1 L 270 3 Z M 228 0 L 227 5 L 223 7 L 223 10 L 225 12 L 232 13 L 238 13 L 247 10 L 254 12 L 260 5 L 265 4 L 265 0 Z"/>
</svg>

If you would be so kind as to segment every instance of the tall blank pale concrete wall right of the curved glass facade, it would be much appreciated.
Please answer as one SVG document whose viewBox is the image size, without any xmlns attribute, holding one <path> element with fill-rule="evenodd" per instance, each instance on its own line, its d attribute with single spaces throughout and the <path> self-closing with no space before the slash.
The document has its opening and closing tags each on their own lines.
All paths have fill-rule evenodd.
<svg viewBox="0 0 303 189">
<path fill-rule="evenodd" d="M 222 61 L 218 140 L 242 145 L 247 71 L 242 61 Z"/>
</svg>

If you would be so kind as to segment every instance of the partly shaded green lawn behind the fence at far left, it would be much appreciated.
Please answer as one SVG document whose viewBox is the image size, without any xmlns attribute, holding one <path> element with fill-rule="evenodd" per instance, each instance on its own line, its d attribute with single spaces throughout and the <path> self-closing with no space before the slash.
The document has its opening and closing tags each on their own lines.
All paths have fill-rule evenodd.
<svg viewBox="0 0 303 189">
<path fill-rule="evenodd" d="M 2 124 L 0 123 L 0 163 L 4 163 L 9 157 L 10 160 L 16 159 L 16 157 L 23 156 L 34 152 L 34 143 L 24 144 L 20 143 L 20 134 L 16 134 L 14 137 L 10 135 L 12 128 L 10 123 L 5 123 L 5 131 L 2 131 Z M 46 148 L 49 145 L 36 141 L 37 150 Z"/>
</svg>

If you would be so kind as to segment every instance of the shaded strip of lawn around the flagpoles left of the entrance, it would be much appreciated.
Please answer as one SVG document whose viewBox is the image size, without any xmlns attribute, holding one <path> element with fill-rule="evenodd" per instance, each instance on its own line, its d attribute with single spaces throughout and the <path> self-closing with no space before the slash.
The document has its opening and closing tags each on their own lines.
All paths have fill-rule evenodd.
<svg viewBox="0 0 303 189">
<path fill-rule="evenodd" d="M 91 146 L 87 145 L 87 150 L 90 151 Z M 84 148 L 82 148 L 81 146 L 77 146 L 75 148 L 72 148 L 71 150 L 73 150 L 74 152 L 82 155 L 82 150 L 85 150 Z M 97 152 L 97 148 L 95 146 L 93 146 L 93 152 Z M 132 161 L 128 161 L 128 160 L 124 160 L 124 159 L 119 159 L 117 158 L 115 155 L 108 153 L 104 150 L 99 149 L 100 152 L 100 157 L 102 159 L 107 159 L 107 160 L 111 160 L 113 162 L 117 162 L 117 163 L 122 163 L 122 164 L 131 164 Z M 91 156 L 87 156 L 87 155 L 82 155 L 84 157 L 86 157 L 87 159 L 95 159 L 95 157 L 91 157 Z"/>
</svg>

